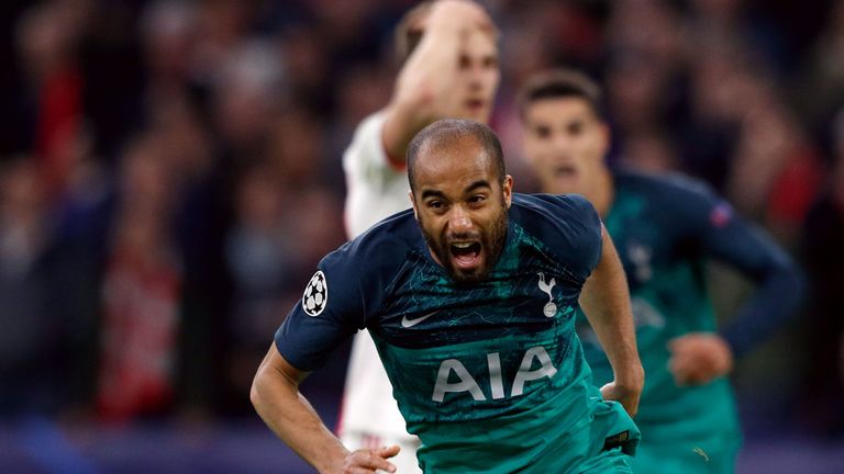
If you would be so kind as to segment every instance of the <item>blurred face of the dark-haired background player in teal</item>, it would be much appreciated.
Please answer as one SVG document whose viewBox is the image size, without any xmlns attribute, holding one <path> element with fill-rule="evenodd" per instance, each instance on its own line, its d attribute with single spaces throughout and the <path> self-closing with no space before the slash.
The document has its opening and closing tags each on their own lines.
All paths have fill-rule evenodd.
<svg viewBox="0 0 844 474">
<path fill-rule="evenodd" d="M 600 184 L 609 131 L 586 100 L 534 101 L 525 110 L 522 137 L 544 192 L 588 194 Z"/>
</svg>

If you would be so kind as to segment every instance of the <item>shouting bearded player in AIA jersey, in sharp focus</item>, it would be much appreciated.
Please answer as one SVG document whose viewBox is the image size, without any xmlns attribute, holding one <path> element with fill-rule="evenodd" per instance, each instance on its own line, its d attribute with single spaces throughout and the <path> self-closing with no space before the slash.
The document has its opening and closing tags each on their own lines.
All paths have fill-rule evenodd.
<svg viewBox="0 0 844 474">
<path fill-rule="evenodd" d="M 298 392 L 366 327 L 424 472 L 631 472 L 644 375 L 595 208 L 513 194 L 498 138 L 468 120 L 420 132 L 408 173 L 413 210 L 326 256 L 276 332 L 253 384 L 258 414 L 322 473 L 393 472 L 398 447 L 348 452 Z M 580 306 L 615 373 L 600 391 L 575 334 Z"/>
</svg>

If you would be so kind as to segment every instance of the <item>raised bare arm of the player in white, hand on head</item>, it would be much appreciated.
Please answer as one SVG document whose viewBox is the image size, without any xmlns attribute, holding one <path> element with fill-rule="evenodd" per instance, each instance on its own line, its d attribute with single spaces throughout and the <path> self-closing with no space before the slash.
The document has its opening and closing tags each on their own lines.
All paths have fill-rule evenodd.
<svg viewBox="0 0 844 474">
<path fill-rule="evenodd" d="M 469 0 L 440 0 L 420 25 L 422 40 L 408 57 L 386 110 L 384 148 L 388 159 L 403 166 L 413 136 L 444 119 L 454 103 L 462 44 L 473 29 L 493 30 L 484 9 Z"/>
</svg>

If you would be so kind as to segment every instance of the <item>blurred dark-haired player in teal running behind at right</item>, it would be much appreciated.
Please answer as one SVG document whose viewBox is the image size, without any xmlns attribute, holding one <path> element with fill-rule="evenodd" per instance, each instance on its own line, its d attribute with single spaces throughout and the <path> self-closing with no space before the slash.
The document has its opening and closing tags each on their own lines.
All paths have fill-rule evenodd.
<svg viewBox="0 0 844 474">
<path fill-rule="evenodd" d="M 600 89 L 557 70 L 520 92 L 524 153 L 543 191 L 581 193 L 604 218 L 628 274 L 647 381 L 635 421 L 635 472 L 731 473 L 741 444 L 725 375 L 733 358 L 796 307 L 801 280 L 789 258 L 701 183 L 677 174 L 610 169 Z M 703 264 L 725 262 L 757 282 L 753 298 L 720 331 Z M 612 380 L 591 331 L 578 329 L 596 383 Z"/>
</svg>

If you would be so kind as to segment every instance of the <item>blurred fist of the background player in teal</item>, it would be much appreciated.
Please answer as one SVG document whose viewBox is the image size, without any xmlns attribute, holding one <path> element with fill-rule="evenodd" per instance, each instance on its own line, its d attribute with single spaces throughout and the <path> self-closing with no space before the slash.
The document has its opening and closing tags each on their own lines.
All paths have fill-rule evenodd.
<svg viewBox="0 0 844 474">
<path fill-rule="evenodd" d="M 677 385 L 702 385 L 733 369 L 733 351 L 724 338 L 691 332 L 668 341 L 668 370 Z"/>
</svg>

